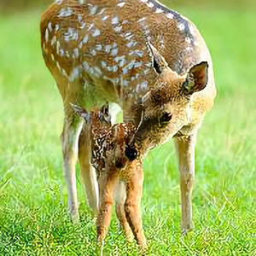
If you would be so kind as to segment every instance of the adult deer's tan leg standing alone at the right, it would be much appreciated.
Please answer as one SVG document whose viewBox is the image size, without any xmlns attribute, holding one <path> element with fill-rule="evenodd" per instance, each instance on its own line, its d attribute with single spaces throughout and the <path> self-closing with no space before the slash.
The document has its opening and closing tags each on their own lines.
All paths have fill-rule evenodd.
<svg viewBox="0 0 256 256">
<path fill-rule="evenodd" d="M 196 134 L 182 139 L 175 139 L 180 172 L 183 234 L 194 228 L 191 195 L 195 181 L 195 141 Z"/>
</svg>

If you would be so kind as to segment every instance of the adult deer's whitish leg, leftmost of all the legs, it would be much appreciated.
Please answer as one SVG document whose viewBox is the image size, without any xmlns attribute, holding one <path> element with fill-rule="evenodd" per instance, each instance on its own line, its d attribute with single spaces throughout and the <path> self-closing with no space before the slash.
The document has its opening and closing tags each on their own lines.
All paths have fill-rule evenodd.
<svg viewBox="0 0 256 256">
<path fill-rule="evenodd" d="M 82 130 L 83 122 L 82 119 L 76 117 L 66 117 L 61 135 L 64 175 L 68 190 L 68 207 L 73 223 L 79 221 L 75 166 L 78 160 L 79 134 Z"/>
</svg>

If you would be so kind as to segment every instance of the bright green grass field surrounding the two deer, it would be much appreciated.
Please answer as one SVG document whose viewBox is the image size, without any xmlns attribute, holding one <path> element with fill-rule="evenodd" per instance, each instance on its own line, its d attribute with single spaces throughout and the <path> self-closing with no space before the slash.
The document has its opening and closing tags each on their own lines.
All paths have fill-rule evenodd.
<svg viewBox="0 0 256 256">
<path fill-rule="evenodd" d="M 172 143 L 145 160 L 148 255 L 256 255 L 256 15 L 181 11 L 212 52 L 218 97 L 196 146 L 195 230 L 189 236 L 179 230 Z M 61 96 L 44 67 L 39 19 L 37 11 L 0 16 L 0 255 L 96 255 L 96 228 L 81 183 L 80 224 L 67 216 Z M 106 244 L 106 255 L 137 255 L 115 217 Z"/>
</svg>

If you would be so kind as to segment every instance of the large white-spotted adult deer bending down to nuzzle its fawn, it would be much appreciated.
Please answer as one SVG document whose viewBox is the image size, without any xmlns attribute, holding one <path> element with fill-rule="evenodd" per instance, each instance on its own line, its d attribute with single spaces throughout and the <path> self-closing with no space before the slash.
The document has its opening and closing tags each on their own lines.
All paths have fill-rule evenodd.
<svg viewBox="0 0 256 256">
<path fill-rule="evenodd" d="M 192 229 L 196 134 L 216 96 L 211 55 L 195 25 L 156 0 L 56 0 L 41 17 L 41 47 L 64 104 L 61 141 L 73 222 L 79 219 L 78 159 L 95 212 L 98 189 L 90 166 L 90 125 L 82 129 L 84 119 L 69 103 L 91 111 L 114 102 L 124 122 L 138 127 L 130 151 L 173 137 L 182 226 Z M 160 119 L 168 125 L 155 134 Z"/>
</svg>

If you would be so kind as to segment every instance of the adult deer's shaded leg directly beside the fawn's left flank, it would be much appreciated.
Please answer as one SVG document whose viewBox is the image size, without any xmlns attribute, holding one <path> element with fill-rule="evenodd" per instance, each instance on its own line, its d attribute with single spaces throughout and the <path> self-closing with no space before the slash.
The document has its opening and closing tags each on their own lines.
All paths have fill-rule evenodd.
<svg viewBox="0 0 256 256">
<path fill-rule="evenodd" d="M 96 180 L 96 170 L 90 165 L 90 158 L 90 124 L 84 124 L 84 129 L 79 137 L 79 164 L 89 206 L 94 214 L 96 214 L 99 205 L 98 183 Z"/>
</svg>

